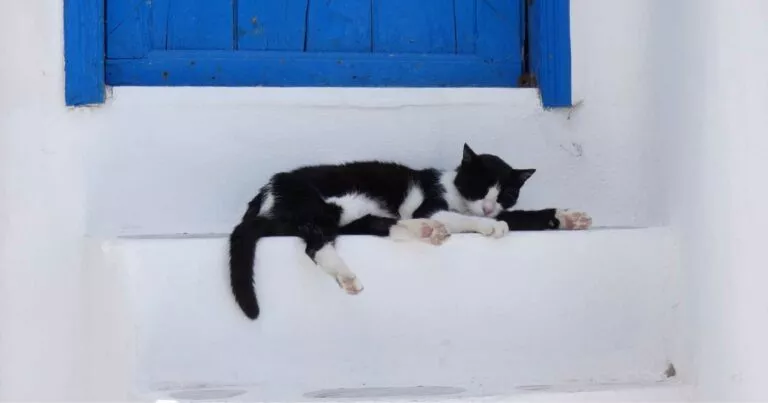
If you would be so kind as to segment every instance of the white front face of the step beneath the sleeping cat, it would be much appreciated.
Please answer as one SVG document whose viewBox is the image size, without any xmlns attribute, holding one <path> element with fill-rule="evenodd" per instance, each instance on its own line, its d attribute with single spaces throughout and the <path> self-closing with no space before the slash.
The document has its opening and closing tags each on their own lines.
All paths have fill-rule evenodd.
<svg viewBox="0 0 768 403">
<path fill-rule="evenodd" d="M 130 389 L 182 400 L 513 396 L 655 385 L 673 359 L 667 229 L 454 235 L 439 247 L 345 237 L 337 247 L 365 285 L 358 296 L 298 239 L 262 240 L 262 315 L 250 321 L 230 295 L 226 237 L 105 241 L 103 264 L 123 292 L 113 298 L 127 308 Z"/>
</svg>

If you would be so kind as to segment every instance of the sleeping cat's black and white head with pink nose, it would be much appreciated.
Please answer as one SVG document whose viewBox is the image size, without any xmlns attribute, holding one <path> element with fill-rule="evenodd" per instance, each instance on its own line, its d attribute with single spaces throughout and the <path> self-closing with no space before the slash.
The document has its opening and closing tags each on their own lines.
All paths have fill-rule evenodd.
<svg viewBox="0 0 768 403">
<path fill-rule="evenodd" d="M 535 169 L 514 169 L 495 155 L 475 154 L 464 144 L 454 184 L 467 200 L 471 214 L 496 217 L 517 203 L 520 188 L 534 172 Z"/>
</svg>

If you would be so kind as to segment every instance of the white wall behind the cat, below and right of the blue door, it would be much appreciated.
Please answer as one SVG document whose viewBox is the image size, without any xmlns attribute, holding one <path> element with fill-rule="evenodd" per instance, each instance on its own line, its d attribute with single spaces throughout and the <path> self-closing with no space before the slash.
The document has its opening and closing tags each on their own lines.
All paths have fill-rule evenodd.
<svg viewBox="0 0 768 403">
<path fill-rule="evenodd" d="M 523 207 L 588 209 L 599 225 L 663 223 L 648 12 L 645 1 L 574 2 L 583 105 L 570 115 L 542 111 L 532 90 L 117 88 L 91 121 L 87 230 L 226 232 L 276 171 L 371 158 L 452 168 L 464 141 L 539 168 Z"/>
</svg>

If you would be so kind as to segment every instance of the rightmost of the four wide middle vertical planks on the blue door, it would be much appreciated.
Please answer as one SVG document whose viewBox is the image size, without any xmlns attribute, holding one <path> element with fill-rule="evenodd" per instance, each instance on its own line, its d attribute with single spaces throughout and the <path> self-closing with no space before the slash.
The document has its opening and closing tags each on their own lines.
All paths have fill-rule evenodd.
<svg viewBox="0 0 768 403">
<path fill-rule="evenodd" d="M 374 1 L 373 51 L 455 53 L 453 11 L 453 0 Z"/>
</svg>

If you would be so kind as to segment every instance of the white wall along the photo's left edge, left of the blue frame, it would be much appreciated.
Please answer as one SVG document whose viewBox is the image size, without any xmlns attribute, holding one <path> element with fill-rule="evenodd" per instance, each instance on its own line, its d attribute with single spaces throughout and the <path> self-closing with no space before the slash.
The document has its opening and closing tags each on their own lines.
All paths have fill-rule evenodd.
<svg viewBox="0 0 768 403">
<path fill-rule="evenodd" d="M 62 106 L 58 1 L 0 2 L 0 400 L 77 400 L 82 140 Z"/>
</svg>

